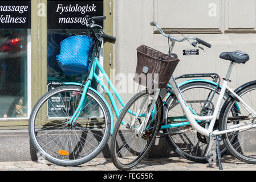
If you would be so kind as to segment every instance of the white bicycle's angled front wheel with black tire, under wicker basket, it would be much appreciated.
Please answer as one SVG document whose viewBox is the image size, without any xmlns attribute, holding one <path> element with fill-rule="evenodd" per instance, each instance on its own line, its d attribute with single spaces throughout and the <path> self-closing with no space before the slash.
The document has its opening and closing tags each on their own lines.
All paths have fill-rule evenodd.
<svg viewBox="0 0 256 182">
<path fill-rule="evenodd" d="M 115 124 L 111 139 L 111 158 L 113 164 L 120 170 L 128 170 L 139 164 L 144 156 L 148 153 L 153 142 L 155 142 L 157 131 L 159 131 L 159 123 L 162 119 L 162 101 L 160 97 L 158 97 L 156 100 L 156 114 L 149 120 L 147 126 L 150 127 L 148 127 L 147 131 L 145 131 L 145 134 L 142 137 L 137 137 L 137 135 L 133 134 L 134 128 L 128 129 L 122 124 L 122 121 L 125 121 L 125 115 L 130 114 L 129 117 L 131 117 L 131 115 L 134 116 L 134 114 L 131 114 L 130 108 L 135 107 L 136 101 L 140 100 L 144 96 L 147 97 L 149 95 L 150 94 L 148 92 L 140 92 L 133 96 L 121 111 L 121 114 Z M 141 113 L 147 112 L 150 105 L 151 104 L 145 104 L 145 108 L 143 111 L 141 111 Z M 135 109 L 135 113 L 137 113 L 137 109 Z M 137 119 L 137 121 L 140 120 Z M 130 132 L 132 134 L 130 134 Z M 134 141 L 132 138 L 129 138 L 129 136 L 134 136 Z M 136 142 L 136 139 L 136 146 L 132 146 L 132 144 Z M 145 143 L 145 146 L 141 147 L 143 143 Z M 128 150 L 123 151 L 124 148 L 128 148 Z M 123 158 L 119 158 L 120 156 Z M 127 160 L 129 160 L 129 162 L 125 163 Z"/>
</svg>

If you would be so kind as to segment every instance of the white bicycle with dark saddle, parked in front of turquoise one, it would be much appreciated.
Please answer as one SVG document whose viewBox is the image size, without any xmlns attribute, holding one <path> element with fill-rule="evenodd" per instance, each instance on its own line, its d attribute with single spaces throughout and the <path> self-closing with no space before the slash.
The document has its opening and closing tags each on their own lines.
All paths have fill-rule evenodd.
<svg viewBox="0 0 256 182">
<path fill-rule="evenodd" d="M 161 34 L 165 35 L 156 22 L 152 22 L 151 25 L 156 26 Z M 194 37 L 186 37 L 184 39 L 177 39 L 168 35 L 166 35 L 166 37 L 172 40 L 172 46 L 175 42 L 182 42 L 184 40 L 193 40 L 193 46 L 198 48 L 202 48 L 198 46 L 198 44 L 204 46 L 210 45 Z M 256 134 L 256 130 L 254 129 L 256 127 L 256 108 L 254 107 L 254 105 L 256 105 L 254 104 L 256 101 L 256 80 L 247 82 L 239 86 L 236 90 L 227 86 L 228 82 L 230 82 L 230 73 L 234 64 L 246 63 L 246 61 L 249 60 L 249 56 L 241 51 L 233 51 L 221 53 L 220 58 L 230 60 L 231 63 L 226 77 L 223 78 L 224 82 L 214 111 L 208 112 L 206 115 L 193 112 L 193 108 L 186 102 L 175 78 L 171 76 L 170 85 L 174 94 L 173 97 L 164 104 L 162 119 L 163 121 L 167 119 L 168 112 L 174 110 L 173 102 L 176 102 L 175 106 L 180 106 L 182 110 L 176 113 L 176 115 L 173 114 L 172 117 L 185 117 L 185 120 L 178 122 L 175 126 L 170 125 L 170 135 L 172 135 L 172 131 L 174 135 L 194 129 L 196 133 L 200 134 L 202 138 L 208 142 L 208 147 L 204 155 L 209 163 L 216 159 L 217 155 L 220 169 L 222 169 L 220 155 L 220 142 L 222 139 L 227 150 L 233 154 L 235 158 L 246 163 L 256 164 L 256 146 L 254 142 Z M 159 101 L 159 90 L 159 88 L 148 88 L 136 94 L 121 111 L 111 140 L 111 157 L 117 168 L 131 169 L 135 167 L 144 158 L 155 142 L 156 134 L 160 129 L 161 123 L 161 117 L 158 117 L 158 115 L 161 115 L 159 113 L 162 112 L 160 111 L 162 104 Z M 229 98 L 226 99 L 224 105 L 220 108 L 221 101 L 226 93 L 229 94 Z M 220 109 L 221 112 L 216 122 Z M 125 136 L 125 143 L 120 144 L 120 141 L 117 140 L 117 136 L 120 134 Z M 145 145 L 144 148 L 140 148 L 140 146 L 143 146 L 141 144 L 143 140 L 147 141 L 147 145 Z M 212 151 L 214 140 L 215 142 L 217 140 L 217 154 L 215 151 Z M 142 152 L 138 155 L 137 150 Z"/>
</svg>

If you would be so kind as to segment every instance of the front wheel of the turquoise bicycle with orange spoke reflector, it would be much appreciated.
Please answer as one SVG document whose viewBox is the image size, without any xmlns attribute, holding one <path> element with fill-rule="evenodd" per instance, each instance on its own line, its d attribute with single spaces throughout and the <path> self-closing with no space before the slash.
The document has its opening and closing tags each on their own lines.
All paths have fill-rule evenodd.
<svg viewBox="0 0 256 182">
<path fill-rule="evenodd" d="M 70 122 L 82 92 L 80 86 L 59 86 L 44 94 L 30 115 L 29 135 L 36 151 L 60 166 L 77 166 L 95 158 L 110 135 L 108 107 L 90 89 L 79 117 Z"/>
</svg>

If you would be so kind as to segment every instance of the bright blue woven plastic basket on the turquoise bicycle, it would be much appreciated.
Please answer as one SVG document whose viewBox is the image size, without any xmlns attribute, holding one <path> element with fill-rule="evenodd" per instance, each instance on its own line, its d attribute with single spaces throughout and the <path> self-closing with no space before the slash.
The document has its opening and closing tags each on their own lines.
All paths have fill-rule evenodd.
<svg viewBox="0 0 256 182">
<path fill-rule="evenodd" d="M 90 69 L 93 51 L 94 41 L 90 36 L 71 36 L 60 42 L 60 54 L 56 60 L 66 75 L 83 75 Z"/>
</svg>

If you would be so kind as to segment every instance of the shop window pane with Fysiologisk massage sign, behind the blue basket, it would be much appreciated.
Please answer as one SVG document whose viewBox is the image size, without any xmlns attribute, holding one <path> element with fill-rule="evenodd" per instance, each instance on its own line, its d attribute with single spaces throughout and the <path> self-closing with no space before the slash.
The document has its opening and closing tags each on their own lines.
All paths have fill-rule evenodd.
<svg viewBox="0 0 256 182">
<path fill-rule="evenodd" d="M 47 2 L 47 90 L 54 89 L 62 82 L 86 81 L 88 74 L 68 75 L 60 68 L 56 56 L 60 53 L 60 43 L 70 36 L 87 35 L 86 15 L 102 16 L 103 0 L 98 1 L 48 1 Z M 95 32 L 103 31 L 103 21 L 96 22 Z M 94 55 L 94 53 L 92 53 Z M 92 59 L 94 57 L 92 56 Z M 103 55 L 101 54 L 101 61 Z M 92 88 L 97 89 L 97 82 L 92 81 Z M 56 102 L 58 105 L 58 102 Z M 96 108 L 95 108 L 96 109 Z M 96 112 L 94 112 L 96 113 Z M 48 113 L 48 116 L 51 116 Z"/>
</svg>

